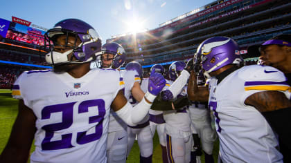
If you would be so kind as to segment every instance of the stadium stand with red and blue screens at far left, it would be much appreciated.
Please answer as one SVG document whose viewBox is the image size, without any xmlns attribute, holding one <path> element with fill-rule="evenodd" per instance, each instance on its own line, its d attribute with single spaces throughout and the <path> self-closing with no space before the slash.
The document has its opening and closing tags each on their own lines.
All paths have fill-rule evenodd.
<svg viewBox="0 0 291 163">
<path fill-rule="evenodd" d="M 0 89 L 10 89 L 23 71 L 46 67 L 44 54 L 48 49 L 43 46 L 44 31 L 5 19 L 0 19 L 0 24 L 9 27 L 0 33 Z"/>
</svg>

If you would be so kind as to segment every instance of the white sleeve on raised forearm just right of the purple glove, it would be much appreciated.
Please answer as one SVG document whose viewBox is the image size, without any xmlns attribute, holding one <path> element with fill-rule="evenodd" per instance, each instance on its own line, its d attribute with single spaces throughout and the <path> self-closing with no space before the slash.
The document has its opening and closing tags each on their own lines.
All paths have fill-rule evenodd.
<svg viewBox="0 0 291 163">
<path fill-rule="evenodd" d="M 187 70 L 182 70 L 181 75 L 170 85 L 168 90 L 173 93 L 173 98 L 177 97 L 181 93 L 183 87 L 186 85 L 190 74 Z"/>
</svg>

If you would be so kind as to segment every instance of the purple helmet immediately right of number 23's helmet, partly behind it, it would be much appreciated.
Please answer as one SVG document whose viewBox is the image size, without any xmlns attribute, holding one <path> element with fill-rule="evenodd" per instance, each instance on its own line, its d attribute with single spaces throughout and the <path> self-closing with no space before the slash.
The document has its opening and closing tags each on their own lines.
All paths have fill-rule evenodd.
<svg viewBox="0 0 291 163">
<path fill-rule="evenodd" d="M 125 59 L 126 59 L 126 55 L 125 55 L 125 50 L 124 48 L 120 45 L 117 44 L 116 42 L 112 42 L 112 43 L 108 43 L 102 46 L 101 48 L 101 52 L 102 54 L 112 54 L 113 57 L 112 58 L 105 58 L 103 57 L 103 55 L 101 55 L 101 67 L 105 68 L 104 64 L 103 64 L 103 60 L 110 60 L 112 59 L 112 64 L 110 66 L 108 66 L 107 68 L 114 68 L 114 69 L 118 69 L 121 68 L 121 66 L 123 66 L 123 64 L 125 63 Z"/>
</svg>

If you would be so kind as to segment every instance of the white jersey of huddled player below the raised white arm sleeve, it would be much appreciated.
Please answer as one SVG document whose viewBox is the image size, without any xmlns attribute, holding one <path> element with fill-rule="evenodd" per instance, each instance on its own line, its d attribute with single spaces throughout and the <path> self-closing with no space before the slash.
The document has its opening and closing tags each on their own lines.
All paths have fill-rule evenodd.
<svg viewBox="0 0 291 163">
<path fill-rule="evenodd" d="M 168 84 L 173 84 L 173 81 L 167 81 Z M 166 86 L 165 86 L 166 87 Z M 168 86 L 167 86 L 168 88 Z M 184 86 L 179 95 L 187 95 L 187 87 Z M 177 95 L 179 97 L 179 95 Z M 182 111 L 164 111 L 164 119 L 166 121 L 165 131 L 168 135 L 177 138 L 184 138 L 191 135 L 191 118 L 188 112 L 188 106 Z"/>
</svg>

